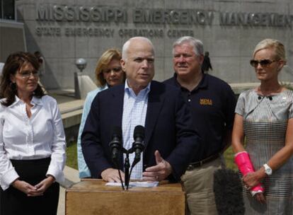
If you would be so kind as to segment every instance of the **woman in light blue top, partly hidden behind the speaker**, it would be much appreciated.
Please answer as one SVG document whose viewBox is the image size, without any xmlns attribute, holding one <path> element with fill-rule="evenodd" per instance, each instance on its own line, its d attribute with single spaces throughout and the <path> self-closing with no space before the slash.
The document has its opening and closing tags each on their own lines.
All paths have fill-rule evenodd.
<svg viewBox="0 0 293 215">
<path fill-rule="evenodd" d="M 121 53 L 116 49 L 110 49 L 105 51 L 96 66 L 96 79 L 98 88 L 91 91 L 86 96 L 84 102 L 84 111 L 81 117 L 81 124 L 79 127 L 79 137 L 77 139 L 77 156 L 79 164 L 79 178 L 91 178 L 91 172 L 88 170 L 86 162 L 84 161 L 84 155 L 81 151 L 81 134 L 84 130 L 84 124 L 86 123 L 86 117 L 91 109 L 91 103 L 96 95 L 111 86 L 118 85 L 125 81 L 125 73 L 122 71 L 120 65 Z"/>
</svg>

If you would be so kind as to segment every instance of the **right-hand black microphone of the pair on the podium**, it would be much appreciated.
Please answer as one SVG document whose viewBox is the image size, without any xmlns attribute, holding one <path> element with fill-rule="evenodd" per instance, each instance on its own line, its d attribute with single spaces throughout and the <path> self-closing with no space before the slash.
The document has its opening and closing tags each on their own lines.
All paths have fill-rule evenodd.
<svg viewBox="0 0 293 215">
<path fill-rule="evenodd" d="M 134 151 L 135 156 L 132 166 L 139 163 L 140 155 L 142 151 L 144 151 L 144 127 L 137 125 L 134 128 L 133 139 L 132 150 Z"/>
</svg>

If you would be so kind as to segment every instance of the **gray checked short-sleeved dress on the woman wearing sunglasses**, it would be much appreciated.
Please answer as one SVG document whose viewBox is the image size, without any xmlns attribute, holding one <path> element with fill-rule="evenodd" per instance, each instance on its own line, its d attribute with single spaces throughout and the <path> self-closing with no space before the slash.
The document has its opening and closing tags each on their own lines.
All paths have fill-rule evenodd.
<svg viewBox="0 0 293 215">
<path fill-rule="evenodd" d="M 243 116 L 243 130 L 255 170 L 285 146 L 287 122 L 293 117 L 293 91 L 264 97 L 254 90 L 241 93 L 235 112 Z M 293 132 L 293 131 L 291 131 Z M 263 180 L 266 204 L 243 188 L 246 214 L 293 214 L 293 157 Z"/>
</svg>

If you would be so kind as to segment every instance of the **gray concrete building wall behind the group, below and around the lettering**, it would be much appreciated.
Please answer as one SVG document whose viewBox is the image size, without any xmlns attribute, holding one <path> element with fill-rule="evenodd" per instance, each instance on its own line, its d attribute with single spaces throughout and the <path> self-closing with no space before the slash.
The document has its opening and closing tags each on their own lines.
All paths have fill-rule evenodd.
<svg viewBox="0 0 293 215">
<path fill-rule="evenodd" d="M 111 17 L 108 22 L 81 21 L 88 18 L 86 15 L 79 16 L 79 21 L 69 21 L 75 16 L 72 15 L 75 14 L 72 8 L 78 9 L 80 6 L 96 6 L 104 11 L 110 8 L 113 11 L 124 11 L 126 15 L 120 20 L 118 18 L 117 22 Z M 121 48 L 134 30 L 147 31 L 147 35 L 152 35 L 149 30 L 163 31 L 162 35 L 149 36 L 156 47 L 155 79 L 159 81 L 172 76 L 172 43 L 185 34 L 204 42 L 214 68 L 211 74 L 229 83 L 257 81 L 248 63 L 253 48 L 266 37 L 281 40 L 285 44 L 288 59 L 281 80 L 293 81 L 292 0 L 18 0 L 16 7 L 18 21 L 25 23 L 28 51 L 40 50 L 45 57 L 46 74 L 42 77 L 42 83 L 47 88 L 74 88 L 74 62 L 80 57 L 88 61 L 84 72 L 94 79 L 93 72 L 100 54 L 110 47 Z M 40 9 L 46 7 L 51 8 L 51 13 L 47 13 L 47 21 L 45 13 Z M 64 12 L 66 8 L 71 12 Z M 139 11 L 135 11 L 138 9 L 146 13 L 164 11 L 173 21 L 160 23 L 159 12 L 153 16 L 153 23 L 139 21 L 142 16 L 139 16 Z M 188 23 L 186 17 L 194 11 L 198 15 L 197 21 Z M 137 23 L 134 23 L 134 13 L 139 16 Z M 237 23 L 232 17 L 230 22 L 223 23 L 221 17 L 224 13 L 229 13 L 231 17 L 243 15 L 251 21 Z M 37 14 L 41 16 L 39 20 Z M 179 21 L 176 20 L 178 17 Z M 78 28 L 81 28 L 80 35 L 70 34 Z M 109 34 L 98 35 L 96 32 L 96 35 L 84 35 L 84 29 L 109 30 Z"/>
</svg>

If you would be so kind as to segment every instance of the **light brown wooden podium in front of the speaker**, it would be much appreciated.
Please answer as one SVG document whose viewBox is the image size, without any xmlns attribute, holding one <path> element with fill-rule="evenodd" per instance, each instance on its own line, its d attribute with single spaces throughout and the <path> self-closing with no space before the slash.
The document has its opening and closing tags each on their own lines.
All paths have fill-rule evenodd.
<svg viewBox="0 0 293 215">
<path fill-rule="evenodd" d="M 179 183 L 158 187 L 105 186 L 103 180 L 83 180 L 66 190 L 67 215 L 185 214 L 185 193 Z"/>
</svg>

